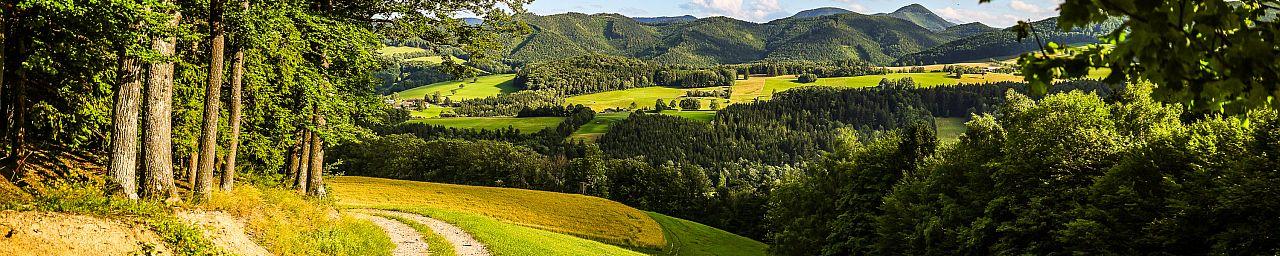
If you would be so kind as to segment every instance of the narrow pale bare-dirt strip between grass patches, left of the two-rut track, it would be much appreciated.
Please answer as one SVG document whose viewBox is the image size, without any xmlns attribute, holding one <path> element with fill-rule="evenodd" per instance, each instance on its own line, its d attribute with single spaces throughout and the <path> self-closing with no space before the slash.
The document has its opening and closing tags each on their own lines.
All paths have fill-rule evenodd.
<svg viewBox="0 0 1280 256">
<path fill-rule="evenodd" d="M 218 247 L 241 256 L 270 256 L 266 248 L 259 246 L 244 232 L 244 224 L 221 211 L 179 211 L 178 219 L 187 224 L 200 225 Z"/>
</svg>

